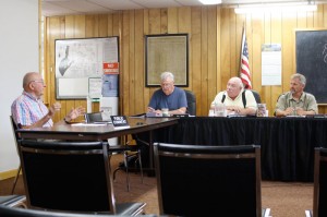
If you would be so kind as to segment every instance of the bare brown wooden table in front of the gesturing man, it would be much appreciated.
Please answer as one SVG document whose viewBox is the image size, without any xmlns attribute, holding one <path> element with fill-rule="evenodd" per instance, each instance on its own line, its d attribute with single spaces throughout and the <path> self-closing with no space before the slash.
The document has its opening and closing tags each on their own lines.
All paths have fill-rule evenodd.
<svg viewBox="0 0 327 217">
<path fill-rule="evenodd" d="M 129 134 L 149 132 L 149 170 L 153 165 L 153 131 L 171 126 L 178 123 L 177 118 L 128 118 L 130 128 L 119 129 L 112 124 L 99 125 L 74 125 L 58 124 L 52 128 L 20 129 L 19 133 L 23 140 L 47 138 L 47 140 L 70 140 L 70 141 L 104 141 L 111 137 L 119 137 Z"/>
</svg>

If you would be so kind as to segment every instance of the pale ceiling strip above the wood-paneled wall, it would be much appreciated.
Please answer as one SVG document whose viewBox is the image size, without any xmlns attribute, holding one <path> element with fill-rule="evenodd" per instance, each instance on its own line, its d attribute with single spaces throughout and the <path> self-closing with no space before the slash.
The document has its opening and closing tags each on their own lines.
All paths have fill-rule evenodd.
<svg viewBox="0 0 327 217">
<path fill-rule="evenodd" d="M 313 2 L 314 0 L 222 0 L 222 5 L 307 1 Z M 198 0 L 41 0 L 41 13 L 44 16 L 55 16 L 192 5 L 201 7 L 203 4 Z"/>
</svg>

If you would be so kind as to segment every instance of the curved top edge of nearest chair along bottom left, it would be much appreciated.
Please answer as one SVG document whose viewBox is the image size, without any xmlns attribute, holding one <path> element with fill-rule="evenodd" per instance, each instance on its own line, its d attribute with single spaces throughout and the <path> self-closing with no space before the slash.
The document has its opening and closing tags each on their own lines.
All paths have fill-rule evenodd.
<svg viewBox="0 0 327 217">
<path fill-rule="evenodd" d="M 130 217 L 121 215 L 101 215 L 101 214 L 72 214 L 72 213 L 61 213 L 61 212 L 49 212 L 49 210 L 36 210 L 36 209 L 23 209 L 23 208 L 12 208 L 0 205 L 0 216 L 1 217 Z M 142 215 L 142 217 L 156 217 L 155 214 Z"/>
</svg>

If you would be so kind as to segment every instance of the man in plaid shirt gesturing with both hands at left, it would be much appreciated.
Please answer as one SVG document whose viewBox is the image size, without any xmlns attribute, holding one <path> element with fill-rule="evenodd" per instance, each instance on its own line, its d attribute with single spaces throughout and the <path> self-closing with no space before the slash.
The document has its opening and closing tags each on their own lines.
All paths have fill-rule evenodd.
<svg viewBox="0 0 327 217">
<path fill-rule="evenodd" d="M 61 109 L 59 103 L 55 103 L 49 108 L 41 100 L 46 84 L 41 75 L 37 72 L 28 72 L 23 79 L 23 94 L 17 97 L 12 106 L 11 113 L 19 125 L 23 129 L 52 126 L 52 118 Z M 72 108 L 63 120 L 56 124 L 65 124 L 71 120 L 85 113 L 82 107 Z"/>
</svg>

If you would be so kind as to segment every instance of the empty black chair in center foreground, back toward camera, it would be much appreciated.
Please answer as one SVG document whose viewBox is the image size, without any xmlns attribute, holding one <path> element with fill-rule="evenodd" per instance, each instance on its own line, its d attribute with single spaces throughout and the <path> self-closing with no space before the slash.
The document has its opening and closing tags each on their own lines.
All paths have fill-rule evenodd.
<svg viewBox="0 0 327 217">
<path fill-rule="evenodd" d="M 268 216 L 261 147 L 155 143 L 160 215 Z"/>
</svg>

